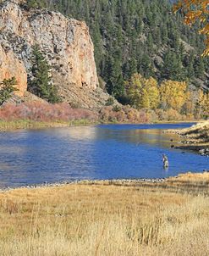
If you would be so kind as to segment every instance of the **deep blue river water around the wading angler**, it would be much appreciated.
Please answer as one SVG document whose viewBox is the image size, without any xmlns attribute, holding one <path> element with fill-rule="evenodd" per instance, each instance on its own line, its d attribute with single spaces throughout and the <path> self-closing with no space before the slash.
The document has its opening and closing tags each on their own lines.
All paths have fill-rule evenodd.
<svg viewBox="0 0 209 256">
<path fill-rule="evenodd" d="M 171 148 L 179 138 L 162 133 L 190 125 L 92 125 L 3 132 L 0 187 L 82 179 L 161 178 L 209 169 L 209 158 Z M 162 153 L 168 155 L 168 170 L 162 168 Z"/>
</svg>

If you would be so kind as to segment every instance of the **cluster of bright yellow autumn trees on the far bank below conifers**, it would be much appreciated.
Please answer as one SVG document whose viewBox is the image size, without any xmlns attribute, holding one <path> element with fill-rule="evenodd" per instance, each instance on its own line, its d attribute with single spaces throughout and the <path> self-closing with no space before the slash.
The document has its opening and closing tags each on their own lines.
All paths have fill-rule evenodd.
<svg viewBox="0 0 209 256">
<path fill-rule="evenodd" d="M 125 86 L 131 107 L 154 111 L 160 120 L 209 117 L 209 93 L 202 89 L 191 90 L 185 81 L 168 80 L 157 84 L 152 77 L 146 79 L 134 74 L 125 82 Z"/>
</svg>

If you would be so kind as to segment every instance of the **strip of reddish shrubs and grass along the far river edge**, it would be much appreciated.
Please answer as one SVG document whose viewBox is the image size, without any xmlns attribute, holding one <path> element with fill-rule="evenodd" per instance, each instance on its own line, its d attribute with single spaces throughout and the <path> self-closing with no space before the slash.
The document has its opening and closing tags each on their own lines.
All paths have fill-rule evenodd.
<svg viewBox="0 0 209 256">
<path fill-rule="evenodd" d="M 19 104 L 6 103 L 0 108 L 0 131 L 98 123 L 162 124 L 193 121 L 184 115 L 177 118 L 160 113 L 157 114 L 147 109 L 132 109 L 129 106 L 117 104 L 89 110 L 74 109 L 68 103 L 50 104 L 33 101 Z"/>
</svg>

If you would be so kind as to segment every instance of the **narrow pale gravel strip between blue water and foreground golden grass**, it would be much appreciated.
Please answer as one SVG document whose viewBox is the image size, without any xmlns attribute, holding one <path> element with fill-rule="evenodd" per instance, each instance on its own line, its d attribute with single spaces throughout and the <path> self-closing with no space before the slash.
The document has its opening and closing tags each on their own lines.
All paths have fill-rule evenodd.
<svg viewBox="0 0 209 256">
<path fill-rule="evenodd" d="M 44 182 L 41 184 L 31 184 L 31 185 L 24 185 L 24 186 L 0 186 L 0 192 L 8 192 L 15 189 L 36 189 L 36 188 L 45 188 L 45 187 L 53 187 L 53 186 L 65 186 L 65 185 L 73 185 L 73 184 L 80 184 L 80 185 L 114 185 L 114 184 L 137 184 L 137 183 L 162 183 L 166 181 L 166 178 L 139 178 L 139 179 L 113 179 L 113 180 L 76 180 L 76 181 L 61 181 L 61 182 Z"/>
</svg>

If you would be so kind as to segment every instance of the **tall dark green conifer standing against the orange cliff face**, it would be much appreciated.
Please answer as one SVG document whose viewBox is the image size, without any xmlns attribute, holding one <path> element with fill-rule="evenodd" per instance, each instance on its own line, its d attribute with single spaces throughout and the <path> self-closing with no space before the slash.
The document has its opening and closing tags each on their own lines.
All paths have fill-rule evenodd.
<svg viewBox="0 0 209 256">
<path fill-rule="evenodd" d="M 29 81 L 29 92 L 47 100 L 49 103 L 60 101 L 58 93 L 52 85 L 52 79 L 49 75 L 50 66 L 38 45 L 33 47 L 31 72 L 33 79 Z"/>
</svg>

